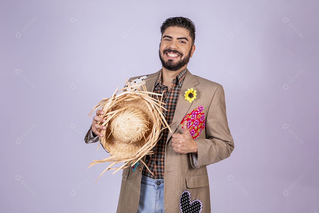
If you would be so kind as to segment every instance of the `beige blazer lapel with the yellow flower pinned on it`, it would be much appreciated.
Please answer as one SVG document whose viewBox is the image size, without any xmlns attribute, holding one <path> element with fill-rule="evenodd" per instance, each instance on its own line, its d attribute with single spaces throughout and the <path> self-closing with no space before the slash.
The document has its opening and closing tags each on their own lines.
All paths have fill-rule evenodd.
<svg viewBox="0 0 319 213">
<path fill-rule="evenodd" d="M 189 108 L 191 108 L 193 103 L 196 102 L 196 99 L 195 99 L 194 101 L 192 101 L 192 103 L 189 103 L 189 101 L 184 99 L 185 98 L 184 95 L 185 95 L 185 91 L 187 89 L 193 88 L 194 90 L 197 90 L 197 88 L 195 87 L 195 85 L 197 85 L 197 84 L 198 84 L 198 81 L 197 81 L 196 77 L 194 75 L 192 75 L 187 70 L 185 79 L 184 79 L 183 84 L 182 84 L 181 93 L 180 93 L 180 96 L 178 98 L 178 101 L 177 101 L 177 104 L 176 104 L 176 108 L 175 108 L 175 112 L 174 112 L 174 117 L 173 117 L 172 123 L 174 123 L 174 121 L 175 121 L 175 123 L 171 126 L 172 132 L 168 133 L 167 141 L 172 136 L 172 134 L 177 130 L 177 127 L 180 125 L 180 122 L 182 121 L 184 116 L 187 113 L 189 113 L 189 111 L 190 111 Z M 196 107 L 194 107 L 194 109 Z"/>
</svg>

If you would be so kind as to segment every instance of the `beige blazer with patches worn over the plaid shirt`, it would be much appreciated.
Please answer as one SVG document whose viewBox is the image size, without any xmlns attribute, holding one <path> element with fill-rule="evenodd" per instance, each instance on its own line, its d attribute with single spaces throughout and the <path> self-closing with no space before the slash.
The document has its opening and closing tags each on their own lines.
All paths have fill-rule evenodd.
<svg viewBox="0 0 319 213">
<path fill-rule="evenodd" d="M 147 91 L 153 91 L 159 72 L 150 74 L 146 79 Z M 138 77 L 140 76 L 132 79 Z M 190 88 L 197 90 L 196 99 L 192 103 L 184 99 L 185 91 Z M 204 107 L 206 126 L 201 135 L 195 139 L 198 152 L 198 163 L 195 167 L 191 153 L 178 154 L 174 152 L 171 140 L 173 133 L 183 133 L 179 124 L 184 116 L 200 105 Z M 171 126 L 172 133 L 168 134 L 165 148 L 165 212 L 180 213 L 181 194 L 184 190 L 188 190 L 191 202 L 199 199 L 203 204 L 202 213 L 210 213 L 210 192 L 206 166 L 229 157 L 234 149 L 233 137 L 230 134 L 226 118 L 223 87 L 187 71 L 174 112 L 174 121 L 176 122 Z M 143 164 L 140 163 L 135 172 L 130 167 L 123 170 L 117 213 L 137 212 L 142 168 Z"/>
</svg>

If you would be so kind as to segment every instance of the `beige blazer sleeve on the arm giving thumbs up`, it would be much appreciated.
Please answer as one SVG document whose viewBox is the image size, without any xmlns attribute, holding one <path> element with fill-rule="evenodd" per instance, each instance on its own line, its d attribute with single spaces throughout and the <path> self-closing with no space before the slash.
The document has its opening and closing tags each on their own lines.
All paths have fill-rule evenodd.
<svg viewBox="0 0 319 213">
<path fill-rule="evenodd" d="M 216 88 L 205 117 L 206 139 L 195 139 L 197 144 L 197 165 L 194 165 L 195 159 L 190 153 L 190 161 L 193 168 L 217 163 L 229 157 L 234 150 L 234 140 L 230 134 L 226 117 L 225 93 L 221 85 Z"/>
</svg>

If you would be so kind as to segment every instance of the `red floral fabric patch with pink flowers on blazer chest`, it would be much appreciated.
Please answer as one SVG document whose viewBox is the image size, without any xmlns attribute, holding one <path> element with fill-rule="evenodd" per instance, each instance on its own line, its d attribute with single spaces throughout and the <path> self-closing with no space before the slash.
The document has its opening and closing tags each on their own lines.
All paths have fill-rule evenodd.
<svg viewBox="0 0 319 213">
<path fill-rule="evenodd" d="M 183 128 L 184 121 L 187 121 L 187 128 L 193 139 L 196 139 L 205 127 L 205 115 L 203 105 L 188 113 L 181 121 Z"/>
</svg>

